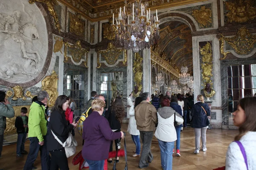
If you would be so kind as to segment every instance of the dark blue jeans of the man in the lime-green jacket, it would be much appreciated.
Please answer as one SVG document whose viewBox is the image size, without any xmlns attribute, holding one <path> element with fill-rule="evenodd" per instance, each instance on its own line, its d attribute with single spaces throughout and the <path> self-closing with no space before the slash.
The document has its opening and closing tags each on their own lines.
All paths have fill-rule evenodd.
<svg viewBox="0 0 256 170">
<path fill-rule="evenodd" d="M 40 155 L 41 155 L 42 170 L 49 170 L 50 169 L 50 156 L 49 156 L 49 152 L 47 151 L 47 147 L 46 147 L 46 136 L 44 136 L 45 143 L 43 146 L 38 144 L 39 141 L 38 141 L 37 137 L 29 137 L 29 140 L 30 140 L 29 154 L 26 159 L 26 163 L 24 165 L 24 170 L 32 170 L 34 162 L 38 156 L 39 150 L 40 150 Z"/>
</svg>

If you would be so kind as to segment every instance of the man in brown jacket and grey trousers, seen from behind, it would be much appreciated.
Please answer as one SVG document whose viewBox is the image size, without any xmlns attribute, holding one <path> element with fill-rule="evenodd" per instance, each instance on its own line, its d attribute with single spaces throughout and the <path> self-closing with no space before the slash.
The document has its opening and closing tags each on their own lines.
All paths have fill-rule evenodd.
<svg viewBox="0 0 256 170">
<path fill-rule="evenodd" d="M 151 142 L 155 124 L 157 123 L 157 110 L 154 105 L 149 103 L 151 98 L 148 92 L 143 93 L 141 98 L 143 101 L 135 108 L 135 119 L 137 129 L 140 130 L 140 137 L 143 142 L 139 167 L 144 168 L 148 167 L 148 162 L 153 161 Z"/>
</svg>

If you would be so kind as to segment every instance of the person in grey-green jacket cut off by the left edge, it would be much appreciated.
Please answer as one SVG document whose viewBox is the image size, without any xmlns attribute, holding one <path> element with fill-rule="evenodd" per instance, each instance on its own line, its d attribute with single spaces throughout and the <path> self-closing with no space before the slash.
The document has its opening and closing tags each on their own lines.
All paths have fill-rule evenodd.
<svg viewBox="0 0 256 170">
<path fill-rule="evenodd" d="M 4 91 L 0 91 L 0 157 L 3 150 L 3 133 L 6 128 L 6 117 L 12 118 L 15 112 L 10 102 L 5 98 Z"/>
</svg>

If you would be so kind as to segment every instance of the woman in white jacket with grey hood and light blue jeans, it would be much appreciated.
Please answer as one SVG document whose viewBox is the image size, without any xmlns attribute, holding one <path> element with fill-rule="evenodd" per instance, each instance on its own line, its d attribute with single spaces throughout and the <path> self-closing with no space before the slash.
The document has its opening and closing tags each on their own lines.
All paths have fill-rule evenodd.
<svg viewBox="0 0 256 170">
<path fill-rule="evenodd" d="M 164 98 L 161 101 L 162 108 L 157 110 L 158 125 L 155 136 L 158 139 L 161 165 L 163 170 L 172 170 L 172 150 L 174 142 L 177 140 L 177 134 L 174 126 L 174 119 L 178 125 L 183 123 L 182 116 L 169 107 L 169 99 Z"/>
</svg>

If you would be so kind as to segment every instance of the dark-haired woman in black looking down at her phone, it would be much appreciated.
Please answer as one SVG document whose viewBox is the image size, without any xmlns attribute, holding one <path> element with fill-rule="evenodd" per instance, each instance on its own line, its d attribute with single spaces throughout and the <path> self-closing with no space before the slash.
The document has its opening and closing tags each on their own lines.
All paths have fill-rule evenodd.
<svg viewBox="0 0 256 170">
<path fill-rule="evenodd" d="M 65 149 L 52 134 L 53 132 L 58 139 L 64 143 L 68 138 L 68 133 L 76 127 L 76 122 L 67 125 L 65 111 L 68 108 L 68 103 L 68 97 L 61 95 L 58 96 L 52 108 L 49 121 L 49 130 L 51 133 L 49 133 L 47 140 L 47 150 L 49 150 L 52 156 L 50 170 L 58 170 L 58 168 L 61 170 L 69 170 Z"/>
</svg>

